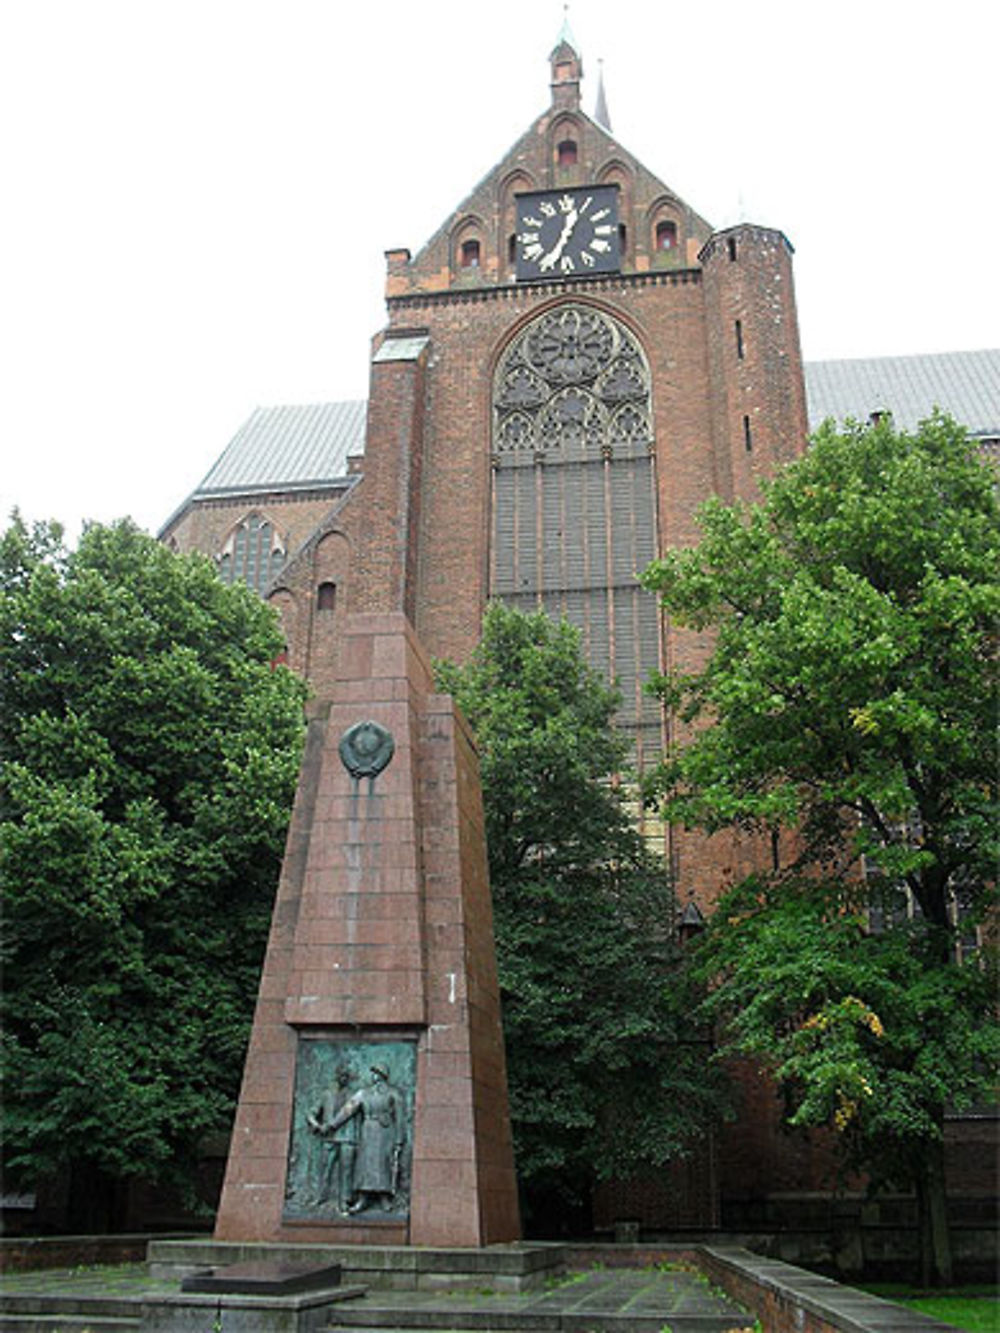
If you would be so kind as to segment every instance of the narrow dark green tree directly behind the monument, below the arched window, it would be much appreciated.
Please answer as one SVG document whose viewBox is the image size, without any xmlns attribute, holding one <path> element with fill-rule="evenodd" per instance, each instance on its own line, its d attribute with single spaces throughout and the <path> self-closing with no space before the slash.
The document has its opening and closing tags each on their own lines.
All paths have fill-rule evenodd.
<svg viewBox="0 0 1000 1333">
<path fill-rule="evenodd" d="M 685 1025 L 671 885 L 613 780 L 619 697 L 579 633 L 492 604 L 439 684 L 480 750 L 517 1172 L 540 1226 L 595 1180 L 681 1153 L 717 1089 Z"/>
</svg>

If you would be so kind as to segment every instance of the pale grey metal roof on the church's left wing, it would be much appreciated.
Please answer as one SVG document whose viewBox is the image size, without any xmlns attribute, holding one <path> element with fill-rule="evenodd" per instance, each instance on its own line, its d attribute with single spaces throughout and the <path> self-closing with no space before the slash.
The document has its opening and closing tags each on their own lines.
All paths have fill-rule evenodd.
<svg viewBox="0 0 1000 1333">
<path fill-rule="evenodd" d="M 364 453 L 367 411 L 364 399 L 257 408 L 191 499 L 308 489 L 345 477 L 348 457 Z"/>
</svg>

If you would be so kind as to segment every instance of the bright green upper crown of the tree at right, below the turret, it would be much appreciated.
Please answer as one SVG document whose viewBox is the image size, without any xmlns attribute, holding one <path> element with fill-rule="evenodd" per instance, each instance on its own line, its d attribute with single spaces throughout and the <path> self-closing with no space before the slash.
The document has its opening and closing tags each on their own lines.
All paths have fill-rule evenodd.
<svg viewBox="0 0 1000 1333">
<path fill-rule="evenodd" d="M 661 680 L 709 718 L 664 766 L 671 817 L 797 826 L 805 860 L 856 852 L 947 929 L 981 912 L 997 857 L 1000 528 L 964 432 L 827 424 L 760 505 L 700 511 L 704 540 L 649 567 L 680 625 L 715 627 L 704 672 Z"/>
</svg>

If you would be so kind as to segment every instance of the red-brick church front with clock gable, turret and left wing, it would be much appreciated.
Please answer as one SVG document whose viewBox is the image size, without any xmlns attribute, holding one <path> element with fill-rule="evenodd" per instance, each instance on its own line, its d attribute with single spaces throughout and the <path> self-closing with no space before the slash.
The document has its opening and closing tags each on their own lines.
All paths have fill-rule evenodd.
<svg viewBox="0 0 1000 1333">
<path fill-rule="evenodd" d="M 367 412 L 259 413 L 163 536 L 275 603 L 320 698 L 347 616 L 401 612 L 463 660 L 491 597 L 564 615 L 617 680 L 643 768 L 675 738 L 645 680 L 708 645 L 637 572 L 696 540 L 707 496 L 752 499 L 805 447 L 792 248 L 713 232 L 612 136 L 603 93 L 581 109 L 567 29 L 549 60 L 549 107 L 423 249 L 387 253 Z M 655 833 L 687 920 L 772 854 Z M 695 1174 L 688 1221 L 711 1224 L 715 1168 Z"/>
</svg>

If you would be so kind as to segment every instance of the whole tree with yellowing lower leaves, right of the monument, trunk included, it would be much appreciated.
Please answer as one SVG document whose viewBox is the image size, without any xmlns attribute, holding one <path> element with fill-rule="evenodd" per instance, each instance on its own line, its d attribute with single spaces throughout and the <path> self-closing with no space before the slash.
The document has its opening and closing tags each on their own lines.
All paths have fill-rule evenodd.
<svg viewBox="0 0 1000 1333">
<path fill-rule="evenodd" d="M 655 786 L 691 826 L 795 830 L 792 864 L 720 905 L 711 1010 L 769 1057 L 795 1122 L 915 1188 L 947 1281 L 945 1108 L 985 1093 L 996 1052 L 992 969 L 960 945 L 997 852 L 995 477 L 935 416 L 827 424 L 763 489 L 708 503 L 700 545 L 644 575 L 717 636 L 659 682 L 693 738 Z"/>
</svg>

